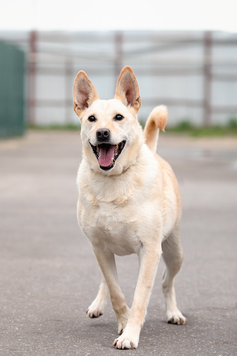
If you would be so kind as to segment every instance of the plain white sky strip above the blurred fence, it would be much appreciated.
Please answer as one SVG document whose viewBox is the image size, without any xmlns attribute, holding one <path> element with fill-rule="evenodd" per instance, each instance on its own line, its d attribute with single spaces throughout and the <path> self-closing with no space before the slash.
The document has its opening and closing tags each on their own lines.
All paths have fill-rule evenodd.
<svg viewBox="0 0 237 356">
<path fill-rule="evenodd" d="M 236 0 L 5 0 L 0 30 L 237 32 L 236 10 Z"/>
</svg>

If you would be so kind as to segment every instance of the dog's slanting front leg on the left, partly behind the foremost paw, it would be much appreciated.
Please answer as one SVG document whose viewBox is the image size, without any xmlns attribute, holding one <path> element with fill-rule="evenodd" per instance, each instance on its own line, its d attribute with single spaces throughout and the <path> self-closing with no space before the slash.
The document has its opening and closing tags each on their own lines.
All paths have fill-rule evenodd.
<svg viewBox="0 0 237 356">
<path fill-rule="evenodd" d="M 93 251 L 109 289 L 112 307 L 118 322 L 118 333 L 122 334 L 128 321 L 130 309 L 126 304 L 124 295 L 119 287 L 114 254 L 111 251 L 104 250 L 98 246 L 93 246 Z"/>
</svg>

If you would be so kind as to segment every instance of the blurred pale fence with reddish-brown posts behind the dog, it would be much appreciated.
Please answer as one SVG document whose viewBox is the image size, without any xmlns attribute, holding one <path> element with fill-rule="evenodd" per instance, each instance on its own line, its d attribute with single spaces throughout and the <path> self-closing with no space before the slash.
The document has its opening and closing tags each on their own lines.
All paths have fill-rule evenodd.
<svg viewBox="0 0 237 356">
<path fill-rule="evenodd" d="M 84 70 L 101 99 L 114 96 L 120 70 L 138 79 L 139 119 L 165 104 L 169 124 L 225 124 L 237 117 L 237 34 L 225 32 L 0 32 L 27 53 L 27 120 L 77 122 L 72 85 Z"/>
</svg>

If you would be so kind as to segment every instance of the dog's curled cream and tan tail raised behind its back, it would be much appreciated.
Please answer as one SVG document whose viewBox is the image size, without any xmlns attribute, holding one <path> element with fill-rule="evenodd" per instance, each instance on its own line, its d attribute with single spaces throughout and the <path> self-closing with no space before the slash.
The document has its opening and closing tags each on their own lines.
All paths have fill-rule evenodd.
<svg viewBox="0 0 237 356">
<path fill-rule="evenodd" d="M 152 152 L 156 152 L 159 131 L 165 131 L 168 111 L 165 105 L 159 105 L 154 108 L 144 128 L 145 142 Z"/>
</svg>

